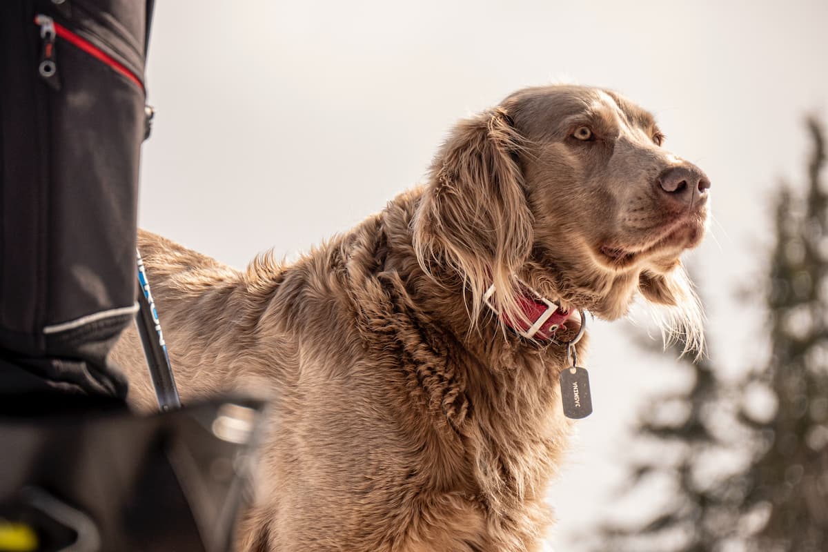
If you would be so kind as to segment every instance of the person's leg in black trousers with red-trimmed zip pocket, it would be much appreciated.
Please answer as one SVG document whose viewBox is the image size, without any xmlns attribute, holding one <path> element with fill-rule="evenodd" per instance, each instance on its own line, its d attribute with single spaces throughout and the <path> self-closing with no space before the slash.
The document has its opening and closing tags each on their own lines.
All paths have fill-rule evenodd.
<svg viewBox="0 0 828 552">
<path fill-rule="evenodd" d="M 151 10 L 134 0 L 0 2 L 3 401 L 126 396 L 106 356 L 137 310 Z"/>
</svg>

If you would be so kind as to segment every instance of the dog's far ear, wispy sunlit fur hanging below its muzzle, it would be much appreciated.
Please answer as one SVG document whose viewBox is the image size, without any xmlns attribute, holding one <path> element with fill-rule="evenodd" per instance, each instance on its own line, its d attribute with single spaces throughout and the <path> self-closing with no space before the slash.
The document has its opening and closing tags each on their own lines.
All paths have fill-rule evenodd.
<svg viewBox="0 0 828 552">
<path fill-rule="evenodd" d="M 644 299 L 667 307 L 666 316 L 660 317 L 665 345 L 681 341 L 684 353 L 694 352 L 698 358 L 705 347 L 705 317 L 684 266 L 678 264 L 666 274 L 643 271 L 638 276 L 638 290 Z"/>
</svg>

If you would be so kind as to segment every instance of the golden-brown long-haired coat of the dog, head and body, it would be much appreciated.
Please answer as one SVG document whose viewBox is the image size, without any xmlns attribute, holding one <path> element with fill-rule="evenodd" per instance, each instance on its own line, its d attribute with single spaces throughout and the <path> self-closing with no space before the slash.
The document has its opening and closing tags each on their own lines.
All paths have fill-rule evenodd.
<svg viewBox="0 0 828 552">
<path fill-rule="evenodd" d="M 692 166 L 656 142 L 618 94 L 525 89 L 460 122 L 425 186 L 289 266 L 235 271 L 141 233 L 183 400 L 272 397 L 238 550 L 538 550 L 570 432 L 565 351 L 505 329 L 482 296 L 493 282 L 519 319 L 519 278 L 615 319 L 640 291 L 699 344 L 678 256 L 706 194 L 685 208 L 659 189 Z M 115 360 L 152 408 L 134 333 Z"/>
</svg>

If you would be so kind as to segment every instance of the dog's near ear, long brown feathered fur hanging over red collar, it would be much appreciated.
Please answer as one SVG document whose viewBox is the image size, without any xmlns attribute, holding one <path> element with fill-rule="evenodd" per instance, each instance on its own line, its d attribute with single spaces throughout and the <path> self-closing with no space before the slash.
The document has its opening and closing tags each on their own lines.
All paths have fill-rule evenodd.
<svg viewBox="0 0 828 552">
<path fill-rule="evenodd" d="M 453 267 L 471 292 L 477 321 L 485 291 L 522 319 L 516 276 L 532 247 L 532 214 L 517 162 L 522 138 L 503 109 L 460 122 L 431 166 L 413 226 L 421 265 Z"/>
</svg>

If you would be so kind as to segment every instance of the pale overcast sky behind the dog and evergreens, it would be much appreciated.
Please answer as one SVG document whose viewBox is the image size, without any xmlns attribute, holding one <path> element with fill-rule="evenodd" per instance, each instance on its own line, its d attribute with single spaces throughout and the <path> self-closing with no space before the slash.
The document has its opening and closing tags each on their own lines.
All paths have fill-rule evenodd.
<svg viewBox="0 0 828 552">
<path fill-rule="evenodd" d="M 527 85 L 616 89 L 713 182 L 714 236 L 690 257 L 713 355 L 738 372 L 766 347 L 733 291 L 761 271 L 769 195 L 802 175 L 803 116 L 828 118 L 826 27 L 824 0 L 158 2 L 141 225 L 233 266 L 291 258 L 420 182 L 457 119 Z M 559 550 L 609 502 L 647 393 L 678 380 L 632 328 L 591 325 L 595 414 L 551 494 Z"/>
</svg>

